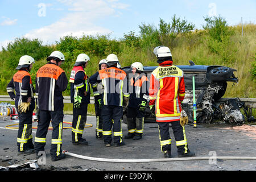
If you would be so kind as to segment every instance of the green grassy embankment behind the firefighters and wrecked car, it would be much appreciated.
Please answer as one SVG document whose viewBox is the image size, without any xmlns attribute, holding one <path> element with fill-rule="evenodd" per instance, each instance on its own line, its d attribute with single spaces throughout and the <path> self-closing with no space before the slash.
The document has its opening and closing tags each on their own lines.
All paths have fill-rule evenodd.
<svg viewBox="0 0 256 182">
<path fill-rule="evenodd" d="M 256 24 L 245 24 L 243 26 L 243 36 L 241 35 L 241 25 L 229 28 L 233 31 L 233 34 L 228 36 L 228 38 L 223 39 L 221 42 L 217 42 L 210 38 L 207 30 L 195 30 L 188 34 L 177 35 L 175 38 L 163 39 L 160 42 L 161 44 L 164 44 L 164 46 L 171 48 L 174 64 L 176 65 L 187 65 L 188 60 L 192 60 L 197 65 L 224 65 L 236 69 L 237 72 L 235 72 L 235 75 L 238 77 L 239 81 L 237 84 L 228 82 L 228 88 L 226 89 L 224 97 L 255 98 L 256 80 L 254 74 L 256 67 Z M 75 62 L 75 57 L 82 52 L 87 53 L 90 56 L 88 67 L 85 69 L 88 76 L 91 76 L 98 71 L 98 62 L 101 59 L 105 59 L 109 53 L 117 54 L 122 67 L 130 66 L 131 63 L 134 63 L 135 61 L 140 61 L 143 65 L 158 65 L 156 63 L 156 57 L 154 53 L 152 53 L 155 45 L 145 48 L 134 44 L 127 44 L 124 40 L 108 40 L 106 37 L 105 39 L 95 38 L 100 44 L 96 45 L 95 43 L 92 43 L 91 46 L 94 46 L 94 49 L 101 44 L 104 44 L 106 47 L 103 53 L 95 53 L 93 50 L 82 51 L 82 46 L 84 46 L 85 43 L 92 41 L 91 39 L 78 39 L 72 36 L 69 36 L 68 38 L 71 39 L 69 40 L 71 41 L 70 45 L 73 45 L 73 42 L 75 42 L 75 45 L 80 46 L 74 46 L 75 51 L 73 49 L 73 52 L 61 50 L 64 52 L 65 57 L 67 57 L 65 64 L 61 66 L 67 73 L 67 77 L 69 77 L 73 63 Z M 67 40 L 65 41 L 65 43 L 67 43 Z M 106 43 L 104 41 L 106 41 Z M 61 45 L 61 43 L 58 43 L 56 46 L 49 46 L 48 51 L 61 48 Z M 99 47 L 99 49 L 100 48 L 101 47 Z M 16 65 L 13 65 L 12 67 L 7 66 L 8 63 L 6 63 L 5 56 L 9 55 L 9 52 L 0 52 L 0 94 L 4 95 L 7 94 L 6 85 L 10 81 L 11 76 L 16 72 Z M 35 78 L 35 73 L 39 67 L 46 63 L 45 60 L 46 57 L 36 60 L 31 71 L 33 79 Z M 68 95 L 69 87 L 64 92 L 64 96 Z M 65 104 L 64 112 L 71 114 L 72 105 Z M 94 113 L 94 106 L 91 104 L 89 105 L 88 113 Z M 256 117 L 255 109 L 253 109 L 253 115 Z"/>
</svg>

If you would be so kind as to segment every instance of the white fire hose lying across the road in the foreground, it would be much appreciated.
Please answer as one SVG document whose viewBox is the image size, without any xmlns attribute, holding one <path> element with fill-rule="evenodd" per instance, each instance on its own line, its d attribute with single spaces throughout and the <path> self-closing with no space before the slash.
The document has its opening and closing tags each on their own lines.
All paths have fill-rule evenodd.
<svg viewBox="0 0 256 182">
<path fill-rule="evenodd" d="M 73 156 L 75 158 L 94 160 L 100 162 L 113 162 L 113 163 L 148 163 L 148 162 L 169 162 L 169 161 L 181 161 L 181 160 L 212 160 L 213 156 L 202 157 L 187 157 L 187 158 L 162 158 L 162 159 L 107 159 L 107 158 L 93 158 L 84 155 L 73 154 L 68 151 L 63 151 L 63 154 Z M 256 157 L 247 156 L 218 156 L 216 159 L 223 160 L 256 160 Z"/>
</svg>

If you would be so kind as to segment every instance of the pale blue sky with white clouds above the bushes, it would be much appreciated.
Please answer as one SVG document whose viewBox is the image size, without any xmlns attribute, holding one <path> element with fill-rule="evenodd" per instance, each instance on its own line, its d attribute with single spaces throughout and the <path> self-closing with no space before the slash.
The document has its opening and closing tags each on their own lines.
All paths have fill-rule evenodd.
<svg viewBox="0 0 256 182">
<path fill-rule="evenodd" d="M 15 38 L 38 38 L 55 44 L 65 35 L 110 35 L 123 38 L 139 25 L 172 16 L 202 29 L 204 17 L 222 16 L 230 26 L 256 23 L 255 0 L 0 0 L 0 51 Z"/>
</svg>

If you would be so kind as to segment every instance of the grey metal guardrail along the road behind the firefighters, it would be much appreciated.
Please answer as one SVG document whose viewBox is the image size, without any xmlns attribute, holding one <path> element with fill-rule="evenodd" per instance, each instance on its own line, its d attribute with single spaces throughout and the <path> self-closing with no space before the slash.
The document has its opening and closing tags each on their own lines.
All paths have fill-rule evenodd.
<svg viewBox="0 0 256 182">
<path fill-rule="evenodd" d="M 234 97 L 235 98 L 235 97 Z M 220 98 L 218 102 L 225 102 L 230 98 Z M 245 105 L 249 108 L 256 108 L 256 98 L 239 98 L 242 102 L 245 102 Z M 1 101 L 13 101 L 9 96 L 0 96 Z M 70 96 L 64 96 L 64 103 L 71 103 Z M 90 97 L 90 104 L 94 104 L 94 97 Z"/>
</svg>

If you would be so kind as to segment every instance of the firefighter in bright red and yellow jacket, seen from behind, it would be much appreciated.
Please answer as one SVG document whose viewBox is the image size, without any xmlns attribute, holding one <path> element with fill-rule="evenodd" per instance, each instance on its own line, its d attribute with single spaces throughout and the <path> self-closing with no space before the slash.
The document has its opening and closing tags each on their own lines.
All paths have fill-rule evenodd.
<svg viewBox="0 0 256 182">
<path fill-rule="evenodd" d="M 184 75 L 181 69 L 172 65 L 172 55 L 168 47 L 154 49 L 159 67 L 150 78 L 150 109 L 155 110 L 156 122 L 159 125 L 159 137 L 164 158 L 171 158 L 171 138 L 169 123 L 172 125 L 179 157 L 194 156 L 189 151 L 185 128 L 180 122 L 181 102 L 185 96 Z M 181 126 L 182 124 L 182 126 Z"/>
</svg>

